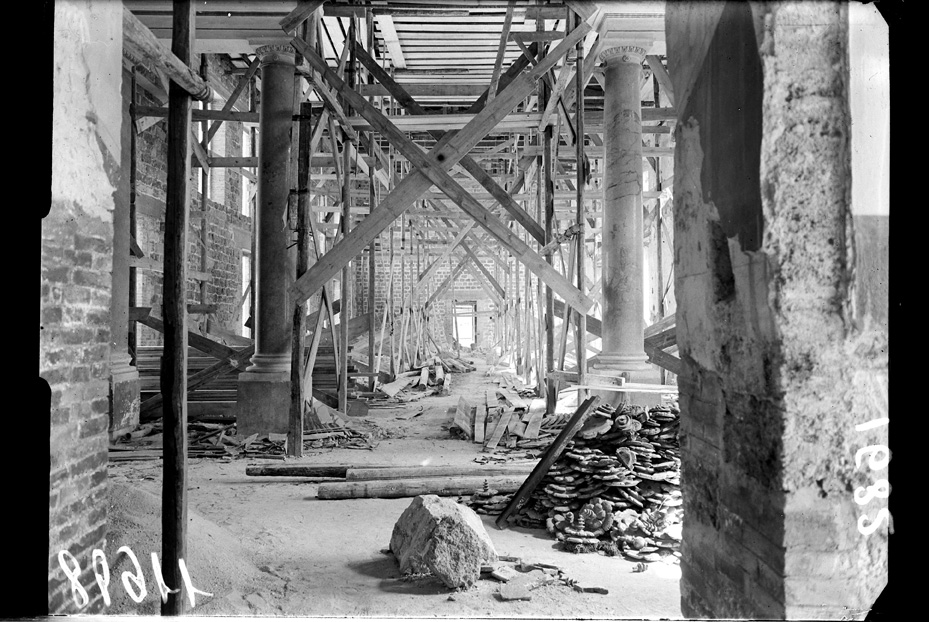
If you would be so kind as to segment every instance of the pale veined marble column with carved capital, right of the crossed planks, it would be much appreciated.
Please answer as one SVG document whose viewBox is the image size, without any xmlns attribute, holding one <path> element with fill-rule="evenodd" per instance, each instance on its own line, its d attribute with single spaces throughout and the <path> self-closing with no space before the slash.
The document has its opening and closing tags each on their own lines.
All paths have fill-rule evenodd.
<svg viewBox="0 0 929 622">
<path fill-rule="evenodd" d="M 646 49 L 620 45 L 600 58 L 604 76 L 603 349 L 591 370 L 651 371 L 644 349 L 642 61 Z M 648 376 L 645 374 L 644 376 Z M 628 395 L 604 395 L 613 402 Z M 613 399 L 610 399 L 613 398 Z"/>
</svg>

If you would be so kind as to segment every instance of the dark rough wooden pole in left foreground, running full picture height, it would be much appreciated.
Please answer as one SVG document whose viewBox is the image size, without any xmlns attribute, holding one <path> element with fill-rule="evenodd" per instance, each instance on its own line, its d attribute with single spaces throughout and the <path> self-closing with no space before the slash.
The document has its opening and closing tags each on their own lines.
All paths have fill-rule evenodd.
<svg viewBox="0 0 929 622">
<path fill-rule="evenodd" d="M 171 51 L 190 65 L 194 44 L 194 6 L 174 3 Z M 162 615 L 184 613 L 186 587 L 178 561 L 187 557 L 187 220 L 190 213 L 190 95 L 175 82 L 168 94 L 168 170 L 165 196 L 164 458 L 161 493 L 161 559 L 168 594 Z"/>
</svg>

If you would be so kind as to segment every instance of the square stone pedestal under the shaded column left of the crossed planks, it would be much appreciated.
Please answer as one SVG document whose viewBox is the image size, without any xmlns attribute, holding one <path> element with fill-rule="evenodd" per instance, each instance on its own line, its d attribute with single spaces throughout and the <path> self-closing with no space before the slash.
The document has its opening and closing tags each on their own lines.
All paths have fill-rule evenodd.
<svg viewBox="0 0 929 622">
<path fill-rule="evenodd" d="M 290 422 L 290 372 L 242 372 L 235 405 L 236 435 L 286 434 Z"/>
</svg>

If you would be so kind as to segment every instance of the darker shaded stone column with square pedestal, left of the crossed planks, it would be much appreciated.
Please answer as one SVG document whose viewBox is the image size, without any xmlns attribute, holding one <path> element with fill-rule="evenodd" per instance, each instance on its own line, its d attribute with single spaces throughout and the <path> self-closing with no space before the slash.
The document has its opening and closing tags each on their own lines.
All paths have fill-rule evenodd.
<svg viewBox="0 0 929 622">
<path fill-rule="evenodd" d="M 255 252 L 255 354 L 239 375 L 239 434 L 287 432 L 293 309 L 287 288 L 295 274 L 286 210 L 293 124 L 294 50 L 266 45 L 261 58 L 258 210 Z"/>
</svg>

